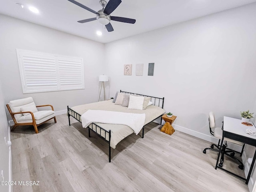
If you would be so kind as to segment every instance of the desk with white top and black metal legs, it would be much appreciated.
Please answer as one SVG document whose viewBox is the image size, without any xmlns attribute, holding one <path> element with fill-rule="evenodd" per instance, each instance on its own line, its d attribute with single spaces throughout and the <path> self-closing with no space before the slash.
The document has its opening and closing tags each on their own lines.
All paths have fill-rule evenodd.
<svg viewBox="0 0 256 192">
<path fill-rule="evenodd" d="M 246 125 L 242 124 L 242 121 L 240 119 L 235 119 L 235 118 L 224 116 L 223 134 L 222 134 L 222 141 L 221 141 L 220 146 L 222 146 L 222 144 L 223 144 L 224 137 L 230 138 L 230 139 L 233 139 L 233 140 L 236 140 L 236 141 L 240 141 L 240 142 L 252 145 L 252 146 L 256 146 L 256 136 L 252 136 L 250 134 L 245 133 L 246 129 L 251 129 L 253 131 L 256 131 L 256 128 L 255 128 L 254 125 L 253 126 L 246 126 Z M 245 180 L 246 181 L 245 183 L 248 184 L 248 182 L 250 180 L 251 173 L 252 173 L 252 169 L 253 169 L 253 166 L 254 166 L 254 162 L 255 162 L 255 159 L 256 159 L 256 151 L 254 153 L 254 157 L 253 157 L 253 160 L 252 160 L 252 164 L 251 164 L 248 176 L 247 176 L 247 178 L 243 178 L 243 177 L 241 177 L 237 174 L 234 174 L 234 173 L 218 166 L 219 159 L 220 159 L 220 154 L 221 154 L 221 148 L 220 148 L 220 151 L 219 151 L 219 154 L 218 154 L 215 169 L 220 168 L 220 169 L 222 169 L 222 170 L 224 170 L 224 171 L 226 171 L 226 172 L 228 172 L 228 173 L 230 173 L 234 176 L 237 176 L 238 178 L 241 178 L 241 179 Z"/>
</svg>

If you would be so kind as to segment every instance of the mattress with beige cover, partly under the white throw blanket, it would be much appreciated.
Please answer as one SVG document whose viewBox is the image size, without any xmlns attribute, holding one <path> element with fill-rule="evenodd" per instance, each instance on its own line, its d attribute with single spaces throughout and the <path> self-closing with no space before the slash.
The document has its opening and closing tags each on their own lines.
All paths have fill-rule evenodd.
<svg viewBox="0 0 256 192">
<path fill-rule="evenodd" d="M 84 114 L 87 110 L 106 110 L 106 111 L 118 111 L 118 112 L 125 112 L 125 113 L 145 113 L 146 118 L 144 125 L 148 124 L 152 120 L 156 119 L 157 117 L 161 116 L 164 114 L 164 109 L 150 105 L 146 108 L 146 110 L 136 110 L 136 109 L 128 109 L 128 107 L 123 107 L 121 105 L 116 105 L 112 102 L 112 100 L 107 100 L 107 101 L 100 101 L 100 102 L 95 102 L 95 103 L 89 103 L 89 104 L 84 104 L 84 105 L 78 105 L 71 107 L 72 110 L 77 112 L 78 114 L 82 115 Z M 72 114 L 70 114 L 72 115 Z M 74 116 L 74 114 L 73 114 Z M 81 121 L 81 119 L 80 119 Z M 105 130 L 111 130 L 111 139 L 110 139 L 110 146 L 112 148 L 116 148 L 116 145 L 132 134 L 134 131 L 126 125 L 120 125 L 120 124 L 102 124 L 102 123 L 97 123 L 98 126 L 104 128 Z M 89 125 L 90 128 L 92 128 L 94 131 L 96 131 L 96 126 L 93 124 Z M 99 131 L 97 131 L 99 133 Z M 101 135 L 105 137 L 105 132 L 102 132 Z M 106 134 L 106 140 L 108 140 L 108 133 Z"/>
</svg>

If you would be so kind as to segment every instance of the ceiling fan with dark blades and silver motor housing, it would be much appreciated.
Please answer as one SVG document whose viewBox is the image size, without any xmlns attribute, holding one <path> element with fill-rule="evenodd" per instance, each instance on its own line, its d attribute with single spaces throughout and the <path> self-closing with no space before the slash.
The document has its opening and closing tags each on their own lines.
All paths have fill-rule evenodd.
<svg viewBox="0 0 256 192">
<path fill-rule="evenodd" d="M 98 12 L 84 6 L 83 4 L 80 4 L 79 2 L 75 0 L 68 0 L 94 14 L 96 14 L 96 17 L 94 18 L 89 18 L 89 19 L 84 19 L 78 21 L 79 23 L 86 23 L 89 21 L 94 21 L 98 20 L 100 24 L 105 25 L 108 32 L 114 31 L 112 25 L 110 24 L 110 21 L 119 21 L 119 22 L 124 22 L 124 23 L 131 23 L 134 24 L 136 22 L 135 19 L 130 19 L 130 18 L 125 18 L 125 17 L 116 17 L 116 16 L 110 16 L 110 14 L 119 6 L 119 4 L 122 2 L 121 0 L 109 0 L 108 4 L 105 0 L 100 0 L 100 5 L 102 6 L 102 9 L 99 10 Z"/>
</svg>

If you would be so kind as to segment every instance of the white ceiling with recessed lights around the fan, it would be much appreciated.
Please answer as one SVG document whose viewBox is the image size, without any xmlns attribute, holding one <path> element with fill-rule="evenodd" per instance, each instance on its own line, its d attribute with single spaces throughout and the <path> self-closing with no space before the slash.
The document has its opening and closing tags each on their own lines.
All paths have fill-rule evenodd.
<svg viewBox="0 0 256 192">
<path fill-rule="evenodd" d="M 76 1 L 96 12 L 102 9 L 99 0 Z M 16 6 L 16 2 L 24 8 Z M 97 30 L 102 31 L 97 20 L 84 24 L 77 22 L 96 14 L 68 0 L 0 0 L 0 14 L 107 43 L 252 2 L 256 0 L 123 0 L 111 15 L 136 19 L 136 23 L 111 21 L 114 31 L 103 29 L 102 36 L 96 35 Z M 39 14 L 30 12 L 29 6 L 38 8 Z"/>
</svg>

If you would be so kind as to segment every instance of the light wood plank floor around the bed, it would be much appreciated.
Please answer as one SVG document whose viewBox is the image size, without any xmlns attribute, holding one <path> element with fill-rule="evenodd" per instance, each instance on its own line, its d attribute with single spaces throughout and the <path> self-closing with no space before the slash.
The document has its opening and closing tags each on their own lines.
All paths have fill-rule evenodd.
<svg viewBox="0 0 256 192">
<path fill-rule="evenodd" d="M 210 142 L 182 132 L 172 136 L 150 123 L 144 138 L 132 134 L 112 149 L 66 115 L 39 126 L 19 126 L 11 133 L 14 192 L 248 192 L 243 180 L 215 170 L 216 152 L 202 152 Z M 224 166 L 244 177 L 237 164 Z"/>
</svg>

